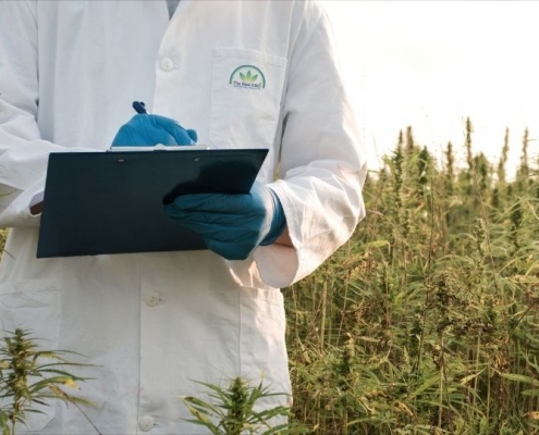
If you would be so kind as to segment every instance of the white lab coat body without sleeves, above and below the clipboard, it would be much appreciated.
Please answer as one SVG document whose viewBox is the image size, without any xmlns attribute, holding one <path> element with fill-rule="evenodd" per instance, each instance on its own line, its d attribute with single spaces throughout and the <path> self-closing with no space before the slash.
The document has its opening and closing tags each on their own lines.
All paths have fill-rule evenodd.
<svg viewBox="0 0 539 435">
<path fill-rule="evenodd" d="M 142 100 L 195 128 L 199 144 L 269 148 L 260 178 L 271 181 L 299 3 L 182 0 L 169 22 L 164 1 L 38 1 L 42 138 L 105 150 Z M 145 415 L 159 424 L 154 432 L 170 433 L 182 408 L 174 400 L 196 393 L 192 381 L 264 375 L 290 389 L 282 295 L 253 259 L 199 251 L 36 260 L 37 234 L 12 231 L 0 323 L 103 366 L 83 389 L 103 433 L 138 431 Z M 42 433 L 84 431 L 76 410 L 44 415 L 34 426 Z"/>
</svg>

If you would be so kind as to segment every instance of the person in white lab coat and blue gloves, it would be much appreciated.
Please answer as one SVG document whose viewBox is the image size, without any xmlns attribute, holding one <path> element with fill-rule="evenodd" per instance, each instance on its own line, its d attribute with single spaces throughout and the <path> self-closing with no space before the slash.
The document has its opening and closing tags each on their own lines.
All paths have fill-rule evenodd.
<svg viewBox="0 0 539 435">
<path fill-rule="evenodd" d="M 199 145 L 269 149 L 256 191 L 163 209 L 210 249 L 36 259 L 49 153 L 105 151 L 125 128 L 152 141 L 155 116 Z M 0 330 L 96 365 L 79 394 L 102 434 L 205 433 L 179 399 L 204 398 L 199 382 L 292 394 L 280 289 L 351 237 L 365 176 L 317 1 L 0 1 Z M 36 406 L 19 430 L 95 433 L 73 406 Z"/>
</svg>

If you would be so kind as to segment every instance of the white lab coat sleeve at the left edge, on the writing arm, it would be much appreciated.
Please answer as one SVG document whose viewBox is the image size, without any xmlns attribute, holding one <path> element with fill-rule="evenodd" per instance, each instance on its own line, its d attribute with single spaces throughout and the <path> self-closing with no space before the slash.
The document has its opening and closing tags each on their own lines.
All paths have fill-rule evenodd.
<svg viewBox="0 0 539 435">
<path fill-rule="evenodd" d="M 35 1 L 0 1 L 0 227 L 39 224 L 29 207 L 42 195 L 48 156 L 66 150 L 42 140 L 36 122 L 37 36 Z"/>
</svg>

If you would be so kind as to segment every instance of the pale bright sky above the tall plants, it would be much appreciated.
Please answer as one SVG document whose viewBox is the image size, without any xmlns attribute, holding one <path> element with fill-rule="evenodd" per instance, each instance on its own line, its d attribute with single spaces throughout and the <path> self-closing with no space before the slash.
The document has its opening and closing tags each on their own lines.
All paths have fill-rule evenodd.
<svg viewBox="0 0 539 435">
<path fill-rule="evenodd" d="M 473 150 L 492 163 L 510 128 L 509 173 L 539 154 L 539 1 L 322 1 L 376 171 L 408 125 L 439 159 L 449 141 L 464 164 L 464 125 Z"/>
</svg>

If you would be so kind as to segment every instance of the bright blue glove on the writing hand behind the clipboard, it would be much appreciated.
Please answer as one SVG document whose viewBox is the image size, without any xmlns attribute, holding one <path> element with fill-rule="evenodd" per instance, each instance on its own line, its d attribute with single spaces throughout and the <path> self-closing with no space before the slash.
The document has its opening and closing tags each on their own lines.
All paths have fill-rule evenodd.
<svg viewBox="0 0 539 435">
<path fill-rule="evenodd" d="M 154 147 L 162 145 L 194 145 L 198 137 L 194 129 L 185 129 L 170 117 L 137 114 L 120 127 L 112 147 Z"/>
</svg>

